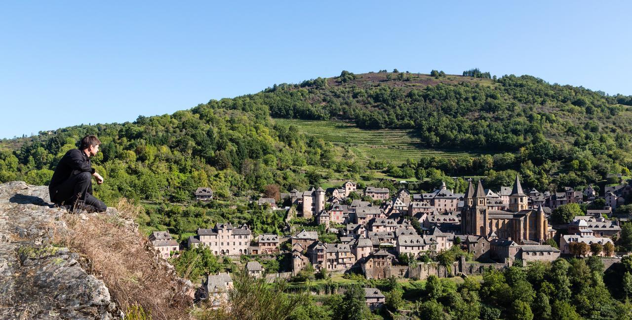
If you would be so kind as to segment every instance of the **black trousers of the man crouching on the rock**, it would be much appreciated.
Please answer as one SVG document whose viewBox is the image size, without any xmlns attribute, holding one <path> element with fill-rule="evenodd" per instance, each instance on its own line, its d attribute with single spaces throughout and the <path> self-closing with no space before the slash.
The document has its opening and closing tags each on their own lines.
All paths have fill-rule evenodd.
<svg viewBox="0 0 632 320">
<path fill-rule="evenodd" d="M 92 196 L 92 174 L 80 172 L 66 179 L 51 190 L 51 200 L 56 204 L 73 206 L 81 210 L 83 206 L 93 206 L 97 211 L 106 211 L 103 201 Z"/>
</svg>

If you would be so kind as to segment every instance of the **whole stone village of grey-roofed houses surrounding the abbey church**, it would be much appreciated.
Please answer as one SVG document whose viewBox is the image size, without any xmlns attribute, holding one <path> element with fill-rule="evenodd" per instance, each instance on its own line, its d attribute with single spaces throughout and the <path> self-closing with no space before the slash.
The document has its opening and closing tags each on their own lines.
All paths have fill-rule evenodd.
<svg viewBox="0 0 632 320">
<path fill-rule="evenodd" d="M 281 201 L 289 203 L 288 220 L 291 215 L 313 219 L 313 223 L 324 225 L 327 232 L 336 235 L 336 243 L 319 240 L 319 233 L 307 228 L 288 230 L 285 237 L 253 237 L 248 225 L 217 223 L 213 228 L 199 228 L 186 246 L 205 246 L 217 256 L 233 258 L 243 254 L 290 254 L 291 270 L 268 275 L 270 278 L 288 278 L 308 265 L 315 271 L 356 272 L 366 278 L 425 279 L 429 275 L 449 276 L 448 270 L 461 275 L 480 274 L 485 268 L 505 268 L 516 262 L 554 261 L 561 254 L 613 256 L 612 237 L 620 235 L 621 227 L 619 221 L 607 217 L 632 194 L 632 186 L 605 187 L 601 198 L 606 206 L 575 216 L 567 225 L 552 225 L 550 213 L 563 204 L 591 203 L 599 198 L 592 186 L 583 191 L 566 187 L 562 193 L 541 193 L 533 188 L 523 189 L 516 176 L 513 186 L 501 187 L 499 191 L 485 189 L 480 181 L 470 181 L 463 194 L 447 189 L 445 183 L 432 193 L 421 194 L 411 194 L 405 188 L 391 194 L 387 188 L 368 186 L 362 192 L 363 199 L 373 201 L 349 201 L 351 193 L 359 194 L 360 190 L 355 182 L 346 181 L 339 188 L 311 187 L 281 194 Z M 198 188 L 195 194 L 202 201 L 212 199 L 209 188 Z M 260 198 L 257 204 L 278 208 L 272 198 Z M 550 246 L 551 239 L 560 249 Z M 166 231 L 153 232 L 149 240 L 163 258 L 180 250 L 178 242 Z M 604 249 L 594 253 L 577 249 L 591 244 L 600 244 Z M 415 260 L 453 246 L 469 252 L 475 261 L 461 257 L 451 268 L 437 263 L 398 263 L 402 257 Z M 257 261 L 248 262 L 246 270 L 250 275 L 264 276 L 264 268 Z M 231 288 L 231 283 L 228 273 L 209 275 L 202 295 L 221 294 Z M 367 305 L 378 307 L 384 303 L 379 290 L 366 290 Z"/>
</svg>

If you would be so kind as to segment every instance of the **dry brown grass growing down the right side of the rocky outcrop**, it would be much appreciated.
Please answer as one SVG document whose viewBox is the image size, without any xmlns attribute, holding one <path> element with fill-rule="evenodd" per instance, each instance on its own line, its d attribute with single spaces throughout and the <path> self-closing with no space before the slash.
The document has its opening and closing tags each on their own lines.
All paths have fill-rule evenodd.
<svg viewBox="0 0 632 320">
<path fill-rule="evenodd" d="M 151 319 L 190 319 L 193 299 L 186 287 L 131 222 L 142 208 L 126 199 L 118 208 L 118 213 L 88 215 L 87 220 L 64 215 L 73 232 L 57 233 L 56 242 L 88 259 L 87 271 L 106 283 L 123 312 L 140 307 Z"/>
</svg>

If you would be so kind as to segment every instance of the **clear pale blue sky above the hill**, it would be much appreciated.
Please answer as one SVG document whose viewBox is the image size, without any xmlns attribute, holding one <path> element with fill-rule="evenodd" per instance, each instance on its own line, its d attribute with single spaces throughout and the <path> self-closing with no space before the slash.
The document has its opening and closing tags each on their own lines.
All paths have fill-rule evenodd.
<svg viewBox="0 0 632 320">
<path fill-rule="evenodd" d="M 3 1 L 0 138 L 345 69 L 478 67 L 632 94 L 629 1 Z"/>
</svg>

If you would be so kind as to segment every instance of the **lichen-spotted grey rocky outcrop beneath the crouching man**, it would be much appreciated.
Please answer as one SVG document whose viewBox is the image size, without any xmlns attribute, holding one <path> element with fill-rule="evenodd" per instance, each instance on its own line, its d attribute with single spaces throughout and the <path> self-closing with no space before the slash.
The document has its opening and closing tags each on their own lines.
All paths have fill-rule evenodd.
<svg viewBox="0 0 632 320">
<path fill-rule="evenodd" d="M 46 186 L 0 184 L 0 319 L 118 318 L 103 281 L 52 243 L 64 213 Z"/>
</svg>

